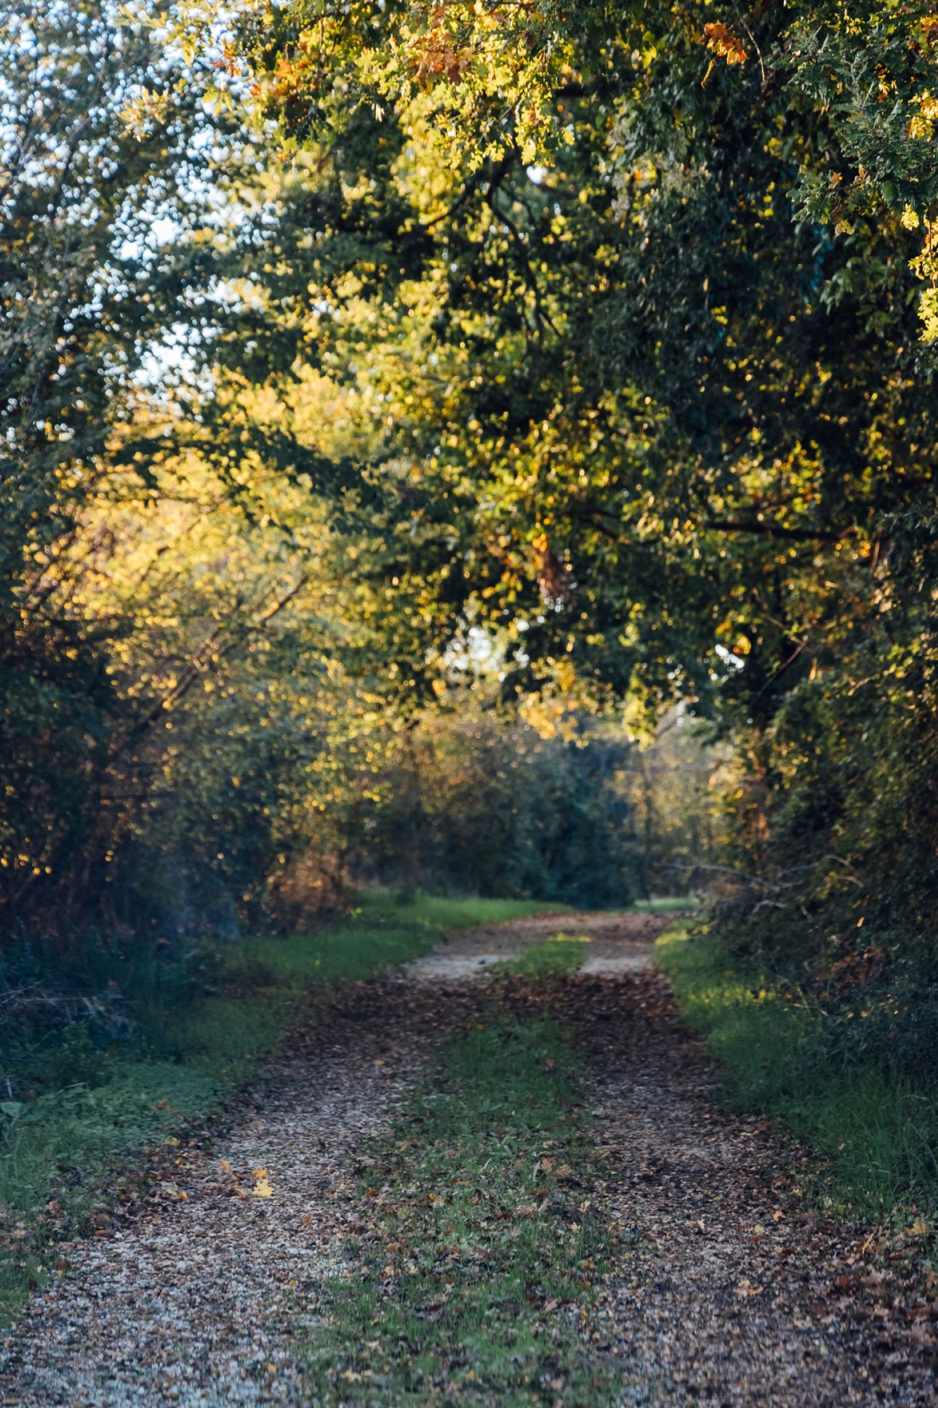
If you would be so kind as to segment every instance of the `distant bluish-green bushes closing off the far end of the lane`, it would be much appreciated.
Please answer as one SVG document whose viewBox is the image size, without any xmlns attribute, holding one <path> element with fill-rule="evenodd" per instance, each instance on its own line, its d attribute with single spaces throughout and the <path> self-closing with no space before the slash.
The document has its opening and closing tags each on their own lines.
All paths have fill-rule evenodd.
<svg viewBox="0 0 938 1408">
<path fill-rule="evenodd" d="M 428 718 L 386 777 L 359 867 L 396 890 L 580 910 L 703 887 L 725 760 L 680 714 L 639 749 L 618 728 L 541 738 L 479 710 Z"/>
</svg>

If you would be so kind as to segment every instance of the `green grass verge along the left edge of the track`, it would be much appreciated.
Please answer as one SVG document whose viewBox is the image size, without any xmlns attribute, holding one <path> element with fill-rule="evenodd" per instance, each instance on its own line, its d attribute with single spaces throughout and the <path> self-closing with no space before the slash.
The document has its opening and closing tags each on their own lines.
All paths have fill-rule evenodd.
<svg viewBox="0 0 938 1408">
<path fill-rule="evenodd" d="M 446 929 L 544 910 L 534 901 L 365 895 L 348 919 L 317 932 L 220 945 L 207 952 L 215 994 L 193 997 L 169 970 L 148 970 L 131 1001 L 130 1039 L 73 1024 L 3 1048 L 10 1098 L 0 1102 L 0 1325 L 42 1281 L 56 1245 L 107 1200 L 115 1169 L 172 1138 L 246 1081 L 300 1019 L 311 986 L 354 983 L 424 953 Z M 123 979 L 120 969 L 117 977 Z M 90 1033 L 90 1035 L 89 1035 Z M 48 1207 L 52 1201 L 52 1207 Z"/>
</svg>

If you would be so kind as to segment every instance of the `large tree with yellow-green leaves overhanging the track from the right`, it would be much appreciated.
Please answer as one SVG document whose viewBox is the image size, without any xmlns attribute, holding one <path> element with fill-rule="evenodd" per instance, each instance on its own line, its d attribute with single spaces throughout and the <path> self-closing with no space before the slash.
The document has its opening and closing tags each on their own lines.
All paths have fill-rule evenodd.
<svg viewBox="0 0 938 1408">
<path fill-rule="evenodd" d="M 270 287 L 372 418 L 410 677 L 476 628 L 508 697 L 692 701 L 746 760 L 738 863 L 787 876 L 815 953 L 858 870 L 883 912 L 908 880 L 935 736 L 932 30 L 458 3 L 242 28 L 296 153 Z"/>
</svg>

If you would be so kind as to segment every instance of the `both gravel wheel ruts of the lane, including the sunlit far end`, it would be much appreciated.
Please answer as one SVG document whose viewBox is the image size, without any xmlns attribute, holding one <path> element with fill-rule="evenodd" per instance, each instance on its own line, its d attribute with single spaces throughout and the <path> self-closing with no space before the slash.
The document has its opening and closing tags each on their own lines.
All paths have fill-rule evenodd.
<svg viewBox="0 0 938 1408">
<path fill-rule="evenodd" d="M 627 1233 L 583 1332 L 623 1366 L 615 1401 L 934 1402 L 931 1302 L 900 1263 L 873 1264 L 862 1229 L 800 1214 L 793 1152 L 715 1104 L 711 1063 L 663 981 L 637 966 L 663 922 L 563 915 L 479 931 L 318 1004 L 227 1140 L 180 1143 L 154 1194 L 72 1249 L 6 1340 L 3 1402 L 301 1404 L 310 1287 L 342 1274 L 363 1140 L 428 1045 L 472 1011 L 470 976 L 558 929 L 592 939 L 580 974 L 535 1005 L 572 1025 L 589 1063 L 607 1174 L 576 1194 L 583 1217 Z"/>
</svg>

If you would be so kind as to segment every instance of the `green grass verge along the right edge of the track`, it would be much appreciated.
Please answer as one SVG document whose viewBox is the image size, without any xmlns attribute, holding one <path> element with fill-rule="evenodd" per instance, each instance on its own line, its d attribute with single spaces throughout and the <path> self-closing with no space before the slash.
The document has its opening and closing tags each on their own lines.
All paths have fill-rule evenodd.
<svg viewBox="0 0 938 1408">
<path fill-rule="evenodd" d="M 938 1219 L 938 1088 L 848 1060 L 820 1019 L 753 973 L 739 973 L 711 934 L 675 925 L 656 962 L 684 1022 L 723 1063 L 727 1091 L 780 1118 L 823 1166 L 806 1195 L 832 1211 L 901 1224 Z"/>
</svg>

